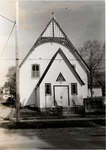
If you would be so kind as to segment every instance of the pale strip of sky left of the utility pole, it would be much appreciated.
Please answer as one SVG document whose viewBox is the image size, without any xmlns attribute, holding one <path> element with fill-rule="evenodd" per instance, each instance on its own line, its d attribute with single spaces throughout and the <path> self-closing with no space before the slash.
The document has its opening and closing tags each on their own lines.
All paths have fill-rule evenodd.
<svg viewBox="0 0 106 150">
<path fill-rule="evenodd" d="M 0 0 L 0 15 L 11 20 L 16 19 L 15 0 Z M 6 45 L 13 23 L 0 16 L 0 86 L 6 81 L 8 68 L 15 65 L 14 32 Z M 5 47 L 6 45 L 6 47 Z M 5 48 L 4 48 L 5 47 Z"/>
</svg>

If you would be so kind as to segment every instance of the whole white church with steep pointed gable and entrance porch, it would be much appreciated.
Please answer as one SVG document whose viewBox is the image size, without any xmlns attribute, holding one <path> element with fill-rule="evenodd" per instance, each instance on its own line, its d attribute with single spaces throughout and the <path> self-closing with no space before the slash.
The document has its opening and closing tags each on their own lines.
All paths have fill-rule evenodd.
<svg viewBox="0 0 106 150">
<path fill-rule="evenodd" d="M 54 17 L 19 67 L 22 106 L 71 108 L 88 96 L 89 68 Z"/>
</svg>

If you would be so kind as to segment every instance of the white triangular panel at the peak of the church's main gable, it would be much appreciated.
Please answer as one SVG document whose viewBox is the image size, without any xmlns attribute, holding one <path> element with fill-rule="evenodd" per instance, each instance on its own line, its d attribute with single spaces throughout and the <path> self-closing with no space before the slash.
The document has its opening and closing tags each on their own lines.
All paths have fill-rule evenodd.
<svg viewBox="0 0 106 150">
<path fill-rule="evenodd" d="M 50 20 L 44 31 L 41 33 L 41 37 L 60 37 L 60 38 L 65 38 L 66 35 L 63 32 L 62 28 L 60 25 L 56 22 L 54 17 Z"/>
</svg>

